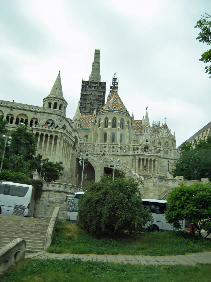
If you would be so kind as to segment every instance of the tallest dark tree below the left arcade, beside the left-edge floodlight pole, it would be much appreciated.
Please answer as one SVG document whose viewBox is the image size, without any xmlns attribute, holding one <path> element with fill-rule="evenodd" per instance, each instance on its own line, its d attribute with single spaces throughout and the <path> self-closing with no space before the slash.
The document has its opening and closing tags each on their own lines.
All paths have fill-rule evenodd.
<svg viewBox="0 0 211 282">
<path fill-rule="evenodd" d="M 27 131 L 27 125 L 18 124 L 12 131 L 12 142 L 8 151 L 8 157 L 23 155 L 25 162 L 33 160 L 36 149 L 36 141 L 33 133 Z"/>
</svg>

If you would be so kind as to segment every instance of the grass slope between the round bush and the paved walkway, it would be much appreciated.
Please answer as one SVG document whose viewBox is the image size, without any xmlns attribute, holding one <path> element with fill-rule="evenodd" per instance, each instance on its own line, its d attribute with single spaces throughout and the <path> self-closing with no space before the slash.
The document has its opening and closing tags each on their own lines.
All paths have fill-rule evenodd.
<svg viewBox="0 0 211 282">
<path fill-rule="evenodd" d="M 211 241 L 188 232 L 144 232 L 121 234 L 115 238 L 97 238 L 78 228 L 75 223 L 58 221 L 50 253 L 184 255 L 211 250 Z"/>
</svg>

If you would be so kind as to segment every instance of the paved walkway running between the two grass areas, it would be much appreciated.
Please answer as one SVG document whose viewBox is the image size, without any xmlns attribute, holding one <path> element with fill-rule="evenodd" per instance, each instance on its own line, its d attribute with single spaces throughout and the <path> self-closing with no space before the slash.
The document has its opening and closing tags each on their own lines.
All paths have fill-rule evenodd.
<svg viewBox="0 0 211 282">
<path fill-rule="evenodd" d="M 46 252 L 39 252 L 25 256 L 25 258 L 35 259 L 71 259 L 73 257 L 83 259 L 84 261 L 108 261 L 114 263 L 133 263 L 141 265 L 195 265 L 196 263 L 211 263 L 211 252 L 158 257 L 145 255 L 51 254 Z"/>
</svg>

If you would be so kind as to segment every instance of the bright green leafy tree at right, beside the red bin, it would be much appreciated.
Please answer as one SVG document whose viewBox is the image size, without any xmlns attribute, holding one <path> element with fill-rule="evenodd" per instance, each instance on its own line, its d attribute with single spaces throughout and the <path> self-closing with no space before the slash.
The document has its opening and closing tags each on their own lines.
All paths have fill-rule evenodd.
<svg viewBox="0 0 211 282">
<path fill-rule="evenodd" d="M 166 220 L 175 228 L 180 228 L 179 221 L 188 219 L 196 226 L 201 237 L 201 230 L 211 233 L 211 183 L 204 185 L 194 182 L 190 186 L 180 184 L 170 191 L 167 197 Z"/>
</svg>

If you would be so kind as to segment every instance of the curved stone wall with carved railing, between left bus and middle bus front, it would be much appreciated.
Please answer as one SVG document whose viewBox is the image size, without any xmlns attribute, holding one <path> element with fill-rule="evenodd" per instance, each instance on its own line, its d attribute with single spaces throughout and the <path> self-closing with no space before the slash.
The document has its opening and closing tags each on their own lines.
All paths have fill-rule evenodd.
<svg viewBox="0 0 211 282">
<path fill-rule="evenodd" d="M 66 183 L 43 182 L 42 195 L 36 201 L 34 217 L 45 217 L 49 193 L 46 218 L 51 218 L 55 207 L 59 207 L 59 219 L 65 220 L 68 209 L 68 202 L 65 202 L 66 196 L 74 195 L 76 192 L 83 192 L 83 188 Z"/>
</svg>

